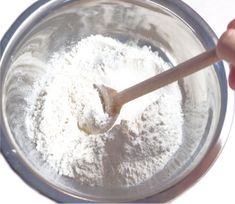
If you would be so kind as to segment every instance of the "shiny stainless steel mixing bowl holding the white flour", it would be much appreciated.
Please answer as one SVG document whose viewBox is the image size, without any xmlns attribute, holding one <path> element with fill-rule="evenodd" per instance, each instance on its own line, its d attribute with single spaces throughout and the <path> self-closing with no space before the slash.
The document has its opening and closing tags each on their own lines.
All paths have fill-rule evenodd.
<svg viewBox="0 0 235 204">
<path fill-rule="evenodd" d="M 27 136 L 24 123 L 32 85 L 59 50 L 92 34 L 150 46 L 172 65 L 208 48 L 217 38 L 191 8 L 178 0 L 41 0 L 29 7 L 1 41 L 1 151 L 32 187 L 59 202 L 166 202 L 195 183 L 210 167 L 229 134 L 234 99 L 223 63 L 180 80 L 183 141 L 165 168 L 131 187 L 85 186 L 58 176 Z M 17 64 L 24 54 L 36 59 Z M 21 77 L 17 73 L 21 73 Z M 120 79 L 121 83 L 121 79 Z"/>
</svg>

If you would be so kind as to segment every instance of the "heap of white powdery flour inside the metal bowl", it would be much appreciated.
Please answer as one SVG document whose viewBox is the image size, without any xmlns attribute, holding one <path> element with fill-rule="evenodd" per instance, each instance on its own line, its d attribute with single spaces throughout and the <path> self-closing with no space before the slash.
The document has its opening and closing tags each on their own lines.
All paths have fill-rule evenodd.
<svg viewBox="0 0 235 204">
<path fill-rule="evenodd" d="M 126 104 L 114 127 L 90 134 L 109 121 L 93 84 L 122 90 L 168 64 L 148 47 L 91 36 L 51 60 L 35 83 L 27 116 L 30 139 L 60 175 L 90 186 L 132 186 L 162 170 L 182 142 L 183 115 L 177 83 Z M 35 97 L 36 95 L 36 97 Z"/>
</svg>

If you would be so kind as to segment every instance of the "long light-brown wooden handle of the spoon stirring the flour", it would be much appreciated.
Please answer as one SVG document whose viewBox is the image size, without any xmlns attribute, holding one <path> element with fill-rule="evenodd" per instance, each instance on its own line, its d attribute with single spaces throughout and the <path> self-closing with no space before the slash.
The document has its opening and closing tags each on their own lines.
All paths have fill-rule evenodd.
<svg viewBox="0 0 235 204">
<path fill-rule="evenodd" d="M 139 84 L 127 88 L 119 93 L 114 98 L 117 106 L 134 100 L 140 96 L 159 89 L 167 84 L 177 81 L 185 76 L 197 72 L 219 60 L 216 49 L 206 51 L 190 60 L 177 65 L 167 71 L 160 73 L 152 78 L 149 78 Z"/>
</svg>

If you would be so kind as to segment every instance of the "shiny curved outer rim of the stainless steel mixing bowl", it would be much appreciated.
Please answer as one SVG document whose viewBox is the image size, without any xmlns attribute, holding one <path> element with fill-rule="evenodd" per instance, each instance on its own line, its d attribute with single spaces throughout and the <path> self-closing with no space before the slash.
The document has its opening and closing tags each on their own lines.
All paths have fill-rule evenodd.
<svg viewBox="0 0 235 204">
<path fill-rule="evenodd" d="M 2 60 L 4 59 L 4 54 L 8 49 L 8 45 L 11 43 L 11 39 L 14 37 L 17 29 L 33 14 L 35 11 L 38 11 L 39 8 L 42 8 L 44 12 L 50 8 L 57 8 L 58 6 L 63 5 L 64 3 L 72 2 L 73 0 L 41 0 L 36 1 L 30 7 L 28 7 L 11 25 L 8 31 L 5 33 L 3 38 L 1 39 L 1 73 L 3 70 Z M 81 0 L 78 0 L 81 1 Z M 141 0 L 136 0 L 141 1 Z M 147 0 L 146 0 L 147 2 Z M 182 2 L 181 0 L 150 0 L 152 3 L 160 4 L 172 12 L 176 13 L 179 17 L 182 18 L 184 22 L 186 22 L 190 27 L 194 30 L 198 30 L 197 34 L 199 40 L 204 44 L 206 48 L 215 47 L 217 42 L 217 37 L 213 30 L 209 27 L 209 25 L 197 14 L 191 7 Z M 143 3 L 143 1 L 142 1 Z M 195 169 L 192 170 L 185 178 L 171 186 L 170 188 L 147 197 L 142 200 L 138 200 L 138 202 L 168 202 L 184 191 L 186 191 L 189 187 L 195 184 L 212 166 L 218 155 L 220 154 L 223 146 L 226 143 L 228 138 L 232 121 L 234 118 L 234 94 L 228 90 L 227 85 L 227 76 L 228 70 L 225 71 L 224 64 L 222 62 L 216 63 L 214 65 L 214 69 L 219 79 L 220 84 L 220 93 L 221 93 L 221 112 L 220 112 L 220 120 L 216 129 L 216 134 L 218 135 L 217 140 L 211 145 L 210 150 L 202 159 L 202 161 L 197 165 Z M 3 77 L 1 75 L 1 85 L 3 82 Z M 3 86 L 1 86 L 3 87 Z M 1 94 L 1 121 L 3 119 L 2 113 L 2 88 L 0 91 Z M 233 111 L 231 111 L 233 109 Z M 224 125 L 227 124 L 227 127 Z M 41 176 L 36 175 L 33 172 L 20 154 L 15 151 L 15 144 L 10 140 L 7 136 L 7 128 L 5 127 L 4 122 L 0 127 L 0 150 L 10 165 L 10 167 L 25 181 L 28 185 L 30 185 L 35 190 L 39 191 L 43 195 L 47 196 L 50 199 L 53 199 L 58 202 L 84 202 L 84 201 L 94 201 L 91 198 L 81 198 L 75 195 L 72 195 L 68 192 L 65 192 L 58 187 L 50 184 L 48 181 L 43 179 Z M 110 200 L 100 199 L 95 200 L 95 202 L 110 202 Z M 113 200 L 111 200 L 112 202 Z M 133 201 L 132 201 L 133 202 Z"/>
</svg>

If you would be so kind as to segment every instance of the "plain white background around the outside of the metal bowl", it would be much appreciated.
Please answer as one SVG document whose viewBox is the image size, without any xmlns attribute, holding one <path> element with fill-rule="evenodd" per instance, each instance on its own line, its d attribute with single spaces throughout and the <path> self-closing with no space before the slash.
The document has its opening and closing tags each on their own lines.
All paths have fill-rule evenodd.
<svg viewBox="0 0 235 204">
<path fill-rule="evenodd" d="M 235 18 L 234 0 L 184 0 L 196 10 L 212 27 L 218 36 L 227 23 Z M 34 0 L 0 1 L 0 38 Z M 235 125 L 234 125 L 235 126 Z M 210 171 L 173 204 L 235 203 L 235 128 L 228 142 Z M 0 203 L 51 204 L 53 201 L 27 186 L 8 166 L 0 155 Z"/>
</svg>

